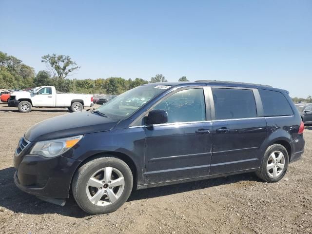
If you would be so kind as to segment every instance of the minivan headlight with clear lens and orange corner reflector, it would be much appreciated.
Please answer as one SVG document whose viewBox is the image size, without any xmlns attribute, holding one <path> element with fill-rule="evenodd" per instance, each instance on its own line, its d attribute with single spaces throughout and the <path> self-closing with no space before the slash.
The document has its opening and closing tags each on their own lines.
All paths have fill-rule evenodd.
<svg viewBox="0 0 312 234">
<path fill-rule="evenodd" d="M 55 140 L 38 141 L 32 148 L 30 154 L 42 155 L 44 157 L 59 156 L 68 151 L 74 145 L 76 145 L 82 137 L 83 135 L 79 135 L 76 137 L 66 137 Z"/>
</svg>

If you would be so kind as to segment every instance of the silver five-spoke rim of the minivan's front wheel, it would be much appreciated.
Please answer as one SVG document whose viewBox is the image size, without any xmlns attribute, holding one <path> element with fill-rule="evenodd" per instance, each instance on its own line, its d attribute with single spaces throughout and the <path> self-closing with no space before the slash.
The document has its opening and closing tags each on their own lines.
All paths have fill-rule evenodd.
<svg viewBox="0 0 312 234">
<path fill-rule="evenodd" d="M 122 173 L 114 167 L 105 167 L 95 172 L 87 182 L 87 196 L 91 203 L 107 206 L 122 195 L 125 181 Z"/>
</svg>

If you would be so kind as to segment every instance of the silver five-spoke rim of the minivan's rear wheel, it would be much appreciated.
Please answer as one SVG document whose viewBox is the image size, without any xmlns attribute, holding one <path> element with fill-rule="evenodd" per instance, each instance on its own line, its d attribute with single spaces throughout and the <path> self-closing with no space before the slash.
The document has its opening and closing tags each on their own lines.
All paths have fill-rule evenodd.
<svg viewBox="0 0 312 234">
<path fill-rule="evenodd" d="M 285 156 L 280 151 L 274 151 L 267 161 L 267 172 L 270 177 L 276 178 L 283 173 L 285 167 Z"/>
</svg>

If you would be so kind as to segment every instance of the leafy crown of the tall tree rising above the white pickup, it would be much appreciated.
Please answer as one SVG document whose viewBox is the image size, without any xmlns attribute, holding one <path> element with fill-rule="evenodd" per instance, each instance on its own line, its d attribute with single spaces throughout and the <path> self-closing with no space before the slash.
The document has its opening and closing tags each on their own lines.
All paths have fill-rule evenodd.
<svg viewBox="0 0 312 234">
<path fill-rule="evenodd" d="M 46 63 L 47 68 L 56 80 L 62 80 L 80 68 L 68 55 L 48 54 L 41 57 L 41 62 Z"/>
</svg>

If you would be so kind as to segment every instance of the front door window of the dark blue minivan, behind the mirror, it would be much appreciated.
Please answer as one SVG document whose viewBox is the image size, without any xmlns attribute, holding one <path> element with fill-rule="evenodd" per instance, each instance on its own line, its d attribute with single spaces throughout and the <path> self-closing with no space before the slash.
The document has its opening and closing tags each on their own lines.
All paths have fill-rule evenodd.
<svg viewBox="0 0 312 234">
<path fill-rule="evenodd" d="M 203 89 L 187 89 L 163 99 L 154 110 L 165 110 L 168 123 L 206 120 L 206 107 Z"/>
</svg>

